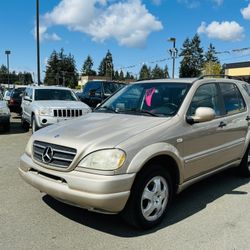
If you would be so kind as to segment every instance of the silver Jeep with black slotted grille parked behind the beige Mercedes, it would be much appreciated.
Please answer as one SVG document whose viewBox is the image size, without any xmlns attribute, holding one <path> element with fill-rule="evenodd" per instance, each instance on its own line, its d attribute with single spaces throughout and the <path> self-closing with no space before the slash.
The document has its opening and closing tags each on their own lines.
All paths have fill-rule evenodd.
<svg viewBox="0 0 250 250">
<path fill-rule="evenodd" d="M 27 87 L 22 99 L 22 126 L 39 128 L 91 112 L 74 92 L 62 87 Z"/>
</svg>

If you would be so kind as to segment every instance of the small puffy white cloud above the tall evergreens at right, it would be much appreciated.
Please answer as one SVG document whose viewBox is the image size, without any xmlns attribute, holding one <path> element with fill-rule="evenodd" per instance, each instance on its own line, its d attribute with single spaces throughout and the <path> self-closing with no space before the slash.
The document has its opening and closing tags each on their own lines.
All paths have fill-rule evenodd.
<svg viewBox="0 0 250 250">
<path fill-rule="evenodd" d="M 199 34 L 204 33 L 209 38 L 215 38 L 223 41 L 240 41 L 244 35 L 244 28 L 241 27 L 237 22 L 212 22 L 206 25 L 202 22 L 200 27 L 197 29 Z"/>
</svg>

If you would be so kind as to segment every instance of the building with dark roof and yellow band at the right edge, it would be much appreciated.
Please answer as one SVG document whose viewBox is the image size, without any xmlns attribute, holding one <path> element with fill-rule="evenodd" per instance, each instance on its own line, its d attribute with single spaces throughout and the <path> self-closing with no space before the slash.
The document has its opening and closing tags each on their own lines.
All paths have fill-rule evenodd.
<svg viewBox="0 0 250 250">
<path fill-rule="evenodd" d="M 224 64 L 225 75 L 238 77 L 250 83 L 250 61 Z"/>
</svg>

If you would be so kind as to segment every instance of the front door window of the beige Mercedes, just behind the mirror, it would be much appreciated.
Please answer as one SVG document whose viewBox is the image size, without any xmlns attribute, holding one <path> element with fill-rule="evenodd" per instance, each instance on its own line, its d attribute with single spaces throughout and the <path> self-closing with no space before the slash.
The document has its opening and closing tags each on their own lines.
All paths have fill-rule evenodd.
<svg viewBox="0 0 250 250">
<path fill-rule="evenodd" d="M 216 116 L 221 115 L 218 89 L 215 83 L 204 84 L 196 90 L 188 109 L 188 115 L 194 115 L 195 110 L 199 107 L 212 108 Z"/>
</svg>

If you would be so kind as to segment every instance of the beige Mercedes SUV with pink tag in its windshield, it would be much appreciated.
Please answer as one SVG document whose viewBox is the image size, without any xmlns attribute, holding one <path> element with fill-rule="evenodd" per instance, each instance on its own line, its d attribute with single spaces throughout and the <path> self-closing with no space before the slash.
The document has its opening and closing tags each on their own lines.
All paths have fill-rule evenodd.
<svg viewBox="0 0 250 250">
<path fill-rule="evenodd" d="M 154 227 L 189 185 L 229 167 L 249 178 L 246 84 L 205 77 L 129 84 L 93 113 L 35 133 L 19 172 L 60 201 Z"/>
</svg>

